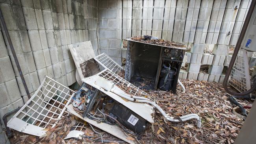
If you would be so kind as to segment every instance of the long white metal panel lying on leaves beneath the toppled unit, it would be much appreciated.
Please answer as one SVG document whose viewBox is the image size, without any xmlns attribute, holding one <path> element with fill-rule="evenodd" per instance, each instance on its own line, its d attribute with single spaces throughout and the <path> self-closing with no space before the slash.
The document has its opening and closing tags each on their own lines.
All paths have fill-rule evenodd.
<svg viewBox="0 0 256 144">
<path fill-rule="evenodd" d="M 128 136 L 126 135 L 126 133 L 124 133 L 121 128 L 119 126 L 116 125 L 109 125 L 106 123 L 98 123 L 95 120 L 91 120 L 87 117 L 83 118 L 83 116 L 81 116 L 80 114 L 76 113 L 76 111 L 74 111 L 73 109 L 73 105 L 70 104 L 67 107 L 67 111 L 69 111 L 69 113 L 74 114 L 75 116 L 81 118 L 82 120 L 88 122 L 89 124 L 92 124 L 93 126 L 98 127 L 99 129 L 102 129 L 103 131 L 106 131 L 107 133 L 110 133 L 111 135 L 114 135 L 115 137 L 120 138 L 121 140 L 124 140 L 126 142 L 128 142 L 129 144 L 136 144 L 135 140 L 128 140 Z"/>
</svg>

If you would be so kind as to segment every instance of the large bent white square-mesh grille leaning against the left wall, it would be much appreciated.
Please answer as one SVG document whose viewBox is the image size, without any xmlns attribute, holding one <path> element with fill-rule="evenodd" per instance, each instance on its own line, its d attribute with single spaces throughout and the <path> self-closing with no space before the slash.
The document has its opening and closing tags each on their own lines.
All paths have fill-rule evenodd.
<svg viewBox="0 0 256 144">
<path fill-rule="evenodd" d="M 41 136 L 43 133 L 35 132 L 35 129 L 54 127 L 63 114 L 68 113 L 66 107 L 74 93 L 75 91 L 46 76 L 32 98 L 8 122 L 8 127 Z M 21 126 L 17 126 L 18 122 Z M 22 127 L 22 124 L 25 126 Z M 29 131 L 27 126 L 35 129 Z"/>
</svg>

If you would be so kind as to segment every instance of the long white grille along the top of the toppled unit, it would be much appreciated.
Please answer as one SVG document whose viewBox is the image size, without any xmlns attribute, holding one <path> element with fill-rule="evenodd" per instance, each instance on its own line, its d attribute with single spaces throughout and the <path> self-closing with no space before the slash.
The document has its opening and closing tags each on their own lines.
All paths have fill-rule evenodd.
<svg viewBox="0 0 256 144">
<path fill-rule="evenodd" d="M 128 81 L 126 81 L 125 79 L 121 78 L 120 76 L 118 76 L 114 72 L 111 72 L 108 69 L 103 70 L 102 72 L 98 73 L 97 75 L 100 77 L 103 77 L 109 81 L 112 81 L 113 83 L 115 83 L 116 86 L 119 86 L 119 88 L 122 87 L 123 89 L 127 89 L 124 91 L 129 92 L 129 94 L 132 96 L 143 96 L 143 97 L 146 96 L 147 98 L 150 98 L 150 100 L 155 101 L 154 97 L 149 96 L 143 90 L 139 89 L 135 85 L 129 83 Z M 131 89 L 128 89 L 128 88 L 131 88 Z"/>
</svg>

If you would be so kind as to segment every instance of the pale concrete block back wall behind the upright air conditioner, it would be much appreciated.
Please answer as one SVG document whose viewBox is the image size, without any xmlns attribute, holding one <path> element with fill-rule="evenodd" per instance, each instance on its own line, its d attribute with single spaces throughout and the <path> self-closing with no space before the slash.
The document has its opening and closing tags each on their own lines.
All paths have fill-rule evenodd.
<svg viewBox="0 0 256 144">
<path fill-rule="evenodd" d="M 236 45 L 251 0 L 101 0 L 100 50 L 121 64 L 122 39 L 152 35 L 191 46 L 180 78 L 222 82 L 226 44 Z M 211 44 L 212 55 L 204 54 Z M 216 51 L 216 49 L 222 49 Z M 200 66 L 209 65 L 208 74 Z M 216 72 L 217 71 L 217 72 Z M 198 77 L 198 74 L 200 75 Z"/>
</svg>

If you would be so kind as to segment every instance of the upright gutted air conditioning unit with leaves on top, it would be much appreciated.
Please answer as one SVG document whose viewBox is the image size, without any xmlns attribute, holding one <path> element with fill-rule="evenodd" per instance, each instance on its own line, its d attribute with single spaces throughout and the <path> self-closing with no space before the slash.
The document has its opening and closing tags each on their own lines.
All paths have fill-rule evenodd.
<svg viewBox="0 0 256 144">
<path fill-rule="evenodd" d="M 176 93 L 186 46 L 175 42 L 164 46 L 154 42 L 164 40 L 127 41 L 125 79 L 137 87 L 143 83 L 143 89 L 159 88 Z"/>
</svg>

